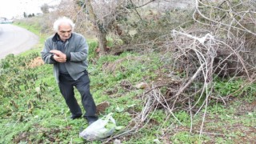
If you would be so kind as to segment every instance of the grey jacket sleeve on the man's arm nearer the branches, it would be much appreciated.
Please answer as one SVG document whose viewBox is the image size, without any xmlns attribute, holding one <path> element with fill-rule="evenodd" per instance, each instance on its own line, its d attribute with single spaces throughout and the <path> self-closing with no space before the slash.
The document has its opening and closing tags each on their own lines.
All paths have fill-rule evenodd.
<svg viewBox="0 0 256 144">
<path fill-rule="evenodd" d="M 75 52 L 70 52 L 70 61 L 71 62 L 82 62 L 85 61 L 88 56 L 89 46 L 86 42 L 86 38 L 78 37 L 78 45 L 76 46 Z"/>
</svg>

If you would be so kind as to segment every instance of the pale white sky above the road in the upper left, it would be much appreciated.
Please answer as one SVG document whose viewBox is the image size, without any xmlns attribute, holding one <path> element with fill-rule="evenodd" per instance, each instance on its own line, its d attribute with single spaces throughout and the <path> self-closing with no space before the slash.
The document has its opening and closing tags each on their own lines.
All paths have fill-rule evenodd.
<svg viewBox="0 0 256 144">
<path fill-rule="evenodd" d="M 29 14 L 42 13 L 40 7 L 58 5 L 61 0 L 0 0 L 0 17 L 19 18 L 26 12 Z"/>
</svg>

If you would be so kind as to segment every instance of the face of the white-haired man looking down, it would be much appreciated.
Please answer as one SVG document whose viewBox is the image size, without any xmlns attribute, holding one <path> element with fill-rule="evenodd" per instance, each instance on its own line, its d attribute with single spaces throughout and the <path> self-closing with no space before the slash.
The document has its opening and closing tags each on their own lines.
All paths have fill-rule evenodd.
<svg viewBox="0 0 256 144">
<path fill-rule="evenodd" d="M 62 41 L 66 41 L 71 37 L 72 27 L 68 23 L 61 24 L 58 26 L 58 35 Z"/>
</svg>

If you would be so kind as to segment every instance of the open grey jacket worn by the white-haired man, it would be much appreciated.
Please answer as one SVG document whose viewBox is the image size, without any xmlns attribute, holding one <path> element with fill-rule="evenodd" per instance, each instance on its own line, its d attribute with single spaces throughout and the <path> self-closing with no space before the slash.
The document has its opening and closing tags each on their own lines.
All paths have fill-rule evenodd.
<svg viewBox="0 0 256 144">
<path fill-rule="evenodd" d="M 46 39 L 45 46 L 41 52 L 42 60 L 46 64 L 54 64 L 54 77 L 56 82 L 58 80 L 58 62 L 54 61 L 53 54 L 50 50 L 57 50 L 58 34 L 50 36 Z M 72 33 L 72 36 L 67 40 L 65 44 L 65 54 L 66 54 L 66 70 L 70 74 L 71 78 L 78 80 L 84 74 L 87 69 L 88 62 L 88 45 L 86 38 L 82 34 Z"/>
</svg>

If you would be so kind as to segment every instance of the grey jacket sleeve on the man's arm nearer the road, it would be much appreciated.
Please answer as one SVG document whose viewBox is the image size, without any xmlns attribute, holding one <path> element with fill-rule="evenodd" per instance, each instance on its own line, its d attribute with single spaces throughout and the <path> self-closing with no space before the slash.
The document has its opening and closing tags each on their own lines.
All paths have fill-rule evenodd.
<svg viewBox="0 0 256 144">
<path fill-rule="evenodd" d="M 47 64 L 54 64 L 56 63 L 56 61 L 53 58 L 53 54 L 50 53 L 50 50 L 53 50 L 53 48 L 50 46 L 50 40 L 46 40 L 45 42 L 45 46 L 41 51 L 41 56 L 42 56 L 42 60 L 43 62 L 47 63 Z"/>
</svg>

